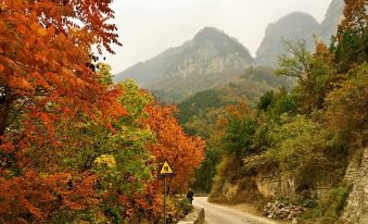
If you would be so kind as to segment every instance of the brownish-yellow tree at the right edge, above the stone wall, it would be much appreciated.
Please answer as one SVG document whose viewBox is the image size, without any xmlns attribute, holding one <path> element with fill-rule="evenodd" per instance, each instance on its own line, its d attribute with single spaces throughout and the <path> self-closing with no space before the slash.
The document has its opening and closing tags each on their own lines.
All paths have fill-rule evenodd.
<svg viewBox="0 0 368 224">
<path fill-rule="evenodd" d="M 354 151 L 367 146 L 368 139 L 368 65 L 351 72 L 340 88 L 329 92 L 323 114 L 331 129 L 342 134 Z"/>
</svg>

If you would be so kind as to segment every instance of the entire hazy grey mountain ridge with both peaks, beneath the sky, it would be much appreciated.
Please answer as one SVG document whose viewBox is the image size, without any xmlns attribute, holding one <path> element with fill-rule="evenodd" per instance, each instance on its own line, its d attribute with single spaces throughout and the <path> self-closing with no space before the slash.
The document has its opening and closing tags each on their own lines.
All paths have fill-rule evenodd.
<svg viewBox="0 0 368 224">
<path fill-rule="evenodd" d="M 162 101 L 180 102 L 195 92 L 229 83 L 248 67 L 277 67 L 277 55 L 284 52 L 282 38 L 305 39 L 309 50 L 315 43 L 314 34 L 328 43 L 337 32 L 343 7 L 344 0 L 333 0 L 321 24 L 302 12 L 269 24 L 255 59 L 236 38 L 204 27 L 191 40 L 132 65 L 116 74 L 114 80 L 132 78 Z M 269 76 L 265 78 L 267 83 Z"/>
</svg>

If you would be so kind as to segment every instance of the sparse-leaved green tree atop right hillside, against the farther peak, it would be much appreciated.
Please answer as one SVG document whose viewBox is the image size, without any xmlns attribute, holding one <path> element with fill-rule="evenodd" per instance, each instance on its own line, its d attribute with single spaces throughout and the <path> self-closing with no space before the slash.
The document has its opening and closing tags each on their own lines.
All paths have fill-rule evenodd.
<svg viewBox="0 0 368 224">
<path fill-rule="evenodd" d="M 278 75 L 296 77 L 297 86 L 293 89 L 299 109 L 312 113 L 323 107 L 325 97 L 339 79 L 332 69 L 333 54 L 325 43 L 318 42 L 314 54 L 308 52 L 305 42 L 285 41 L 288 53 L 279 57 Z"/>
</svg>

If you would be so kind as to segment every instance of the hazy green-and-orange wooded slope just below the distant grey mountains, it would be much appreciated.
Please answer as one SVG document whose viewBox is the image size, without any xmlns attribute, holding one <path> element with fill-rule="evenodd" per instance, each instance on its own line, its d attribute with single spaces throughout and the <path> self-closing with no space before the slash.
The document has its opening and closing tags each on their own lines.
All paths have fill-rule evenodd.
<svg viewBox="0 0 368 224">
<path fill-rule="evenodd" d="M 211 126 L 226 105 L 248 101 L 254 107 L 266 91 L 293 85 L 293 78 L 278 77 L 269 67 L 250 67 L 228 84 L 200 91 L 180 102 L 179 121 L 188 132 L 208 137 Z"/>
</svg>

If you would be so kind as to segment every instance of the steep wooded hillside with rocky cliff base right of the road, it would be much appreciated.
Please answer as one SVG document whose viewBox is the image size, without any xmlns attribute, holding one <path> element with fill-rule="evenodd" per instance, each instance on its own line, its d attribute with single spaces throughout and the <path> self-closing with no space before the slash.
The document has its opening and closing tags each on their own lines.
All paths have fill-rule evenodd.
<svg viewBox="0 0 368 224">
<path fill-rule="evenodd" d="M 294 88 L 219 116 L 208 142 L 223 155 L 212 201 L 267 210 L 278 200 L 302 209 L 267 210 L 269 217 L 367 223 L 368 17 L 364 0 L 345 2 L 330 46 L 309 52 L 303 41 L 285 43 L 276 73 L 295 77 Z"/>
</svg>

